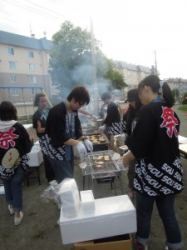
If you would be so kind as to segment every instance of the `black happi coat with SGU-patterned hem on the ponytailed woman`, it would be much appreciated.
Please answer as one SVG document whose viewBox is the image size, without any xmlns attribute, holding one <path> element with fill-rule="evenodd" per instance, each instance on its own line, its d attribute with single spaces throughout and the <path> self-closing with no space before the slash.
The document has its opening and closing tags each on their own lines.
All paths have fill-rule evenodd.
<svg viewBox="0 0 187 250">
<path fill-rule="evenodd" d="M 134 179 L 138 192 L 157 196 L 183 189 L 179 126 L 176 113 L 161 101 L 141 109 L 136 127 L 126 142 L 138 162 Z"/>
</svg>

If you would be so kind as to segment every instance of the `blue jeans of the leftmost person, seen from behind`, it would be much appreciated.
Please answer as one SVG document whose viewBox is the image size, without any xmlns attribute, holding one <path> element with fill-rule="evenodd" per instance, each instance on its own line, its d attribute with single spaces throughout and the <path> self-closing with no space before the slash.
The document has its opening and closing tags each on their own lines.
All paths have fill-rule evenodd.
<svg viewBox="0 0 187 250">
<path fill-rule="evenodd" d="M 22 182 L 24 178 L 24 170 L 22 167 L 18 167 L 15 170 L 15 174 L 7 180 L 3 180 L 5 188 L 5 197 L 7 203 L 12 205 L 16 212 L 22 211 L 23 199 L 22 199 Z"/>
</svg>

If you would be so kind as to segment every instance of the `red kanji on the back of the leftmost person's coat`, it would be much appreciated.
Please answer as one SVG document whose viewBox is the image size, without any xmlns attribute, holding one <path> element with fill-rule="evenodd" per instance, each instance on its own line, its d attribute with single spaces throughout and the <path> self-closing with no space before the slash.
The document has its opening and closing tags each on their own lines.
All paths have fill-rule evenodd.
<svg viewBox="0 0 187 250">
<path fill-rule="evenodd" d="M 14 128 L 9 129 L 5 132 L 0 132 L 0 148 L 8 149 L 9 146 L 15 147 L 15 139 L 17 139 L 19 136 L 14 134 Z"/>
</svg>

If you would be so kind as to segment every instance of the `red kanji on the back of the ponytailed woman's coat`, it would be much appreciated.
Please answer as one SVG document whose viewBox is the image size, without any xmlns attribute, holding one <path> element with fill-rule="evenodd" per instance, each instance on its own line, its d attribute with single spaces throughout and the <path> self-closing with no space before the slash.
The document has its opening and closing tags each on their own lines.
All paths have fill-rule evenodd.
<svg viewBox="0 0 187 250">
<path fill-rule="evenodd" d="M 179 125 L 178 119 L 174 115 L 174 111 L 168 107 L 162 107 L 162 119 L 163 122 L 160 125 L 161 128 L 167 129 L 167 135 L 172 138 L 173 134 L 178 135 L 176 126 Z"/>
</svg>

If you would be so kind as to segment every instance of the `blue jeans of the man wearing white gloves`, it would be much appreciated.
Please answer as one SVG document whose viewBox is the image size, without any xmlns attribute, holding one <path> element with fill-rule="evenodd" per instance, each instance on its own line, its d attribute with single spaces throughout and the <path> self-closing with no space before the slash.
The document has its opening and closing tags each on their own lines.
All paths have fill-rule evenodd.
<svg viewBox="0 0 187 250">
<path fill-rule="evenodd" d="M 55 180 L 60 183 L 65 178 L 73 178 L 74 164 L 73 160 L 55 160 L 49 159 L 55 174 Z"/>
</svg>

